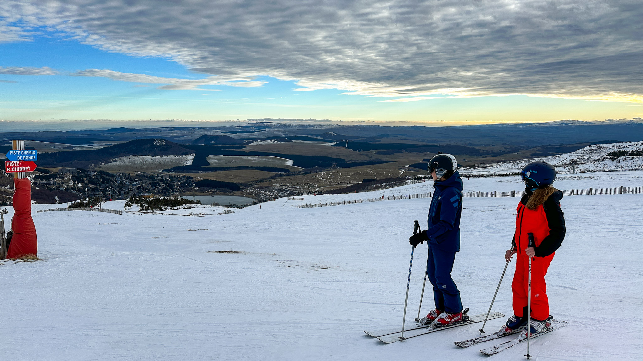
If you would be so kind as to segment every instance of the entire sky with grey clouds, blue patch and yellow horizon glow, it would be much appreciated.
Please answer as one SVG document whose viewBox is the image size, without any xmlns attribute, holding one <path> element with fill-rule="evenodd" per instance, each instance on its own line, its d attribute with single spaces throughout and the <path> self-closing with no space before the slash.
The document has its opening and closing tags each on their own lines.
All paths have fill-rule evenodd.
<svg viewBox="0 0 643 361">
<path fill-rule="evenodd" d="M 643 5 L 0 2 L 0 120 L 643 115 Z"/>
</svg>

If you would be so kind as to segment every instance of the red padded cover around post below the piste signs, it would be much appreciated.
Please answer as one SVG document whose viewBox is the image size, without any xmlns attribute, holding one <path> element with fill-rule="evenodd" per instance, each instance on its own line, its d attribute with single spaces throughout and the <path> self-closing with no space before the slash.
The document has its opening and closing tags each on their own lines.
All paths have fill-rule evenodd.
<svg viewBox="0 0 643 361">
<path fill-rule="evenodd" d="M 14 178 L 14 218 L 11 229 L 14 236 L 7 251 L 7 258 L 21 258 L 29 254 L 37 256 L 38 239 L 32 219 L 32 182 L 28 178 Z"/>
</svg>

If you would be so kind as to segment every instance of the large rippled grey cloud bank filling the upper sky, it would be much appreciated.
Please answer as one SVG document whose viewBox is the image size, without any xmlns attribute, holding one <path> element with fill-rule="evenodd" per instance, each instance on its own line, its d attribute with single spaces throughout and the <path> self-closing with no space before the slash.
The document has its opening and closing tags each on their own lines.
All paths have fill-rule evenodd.
<svg viewBox="0 0 643 361">
<path fill-rule="evenodd" d="M 108 51 L 170 57 L 217 75 L 148 79 L 170 84 L 163 89 L 260 86 L 250 77 L 267 75 L 296 80 L 303 91 L 415 100 L 530 94 L 642 101 L 640 19 L 640 1 L 10 0 L 0 4 L 0 35 L 16 41 L 29 36 L 19 24 L 50 26 Z M 134 78 L 102 72 L 91 76 Z"/>
</svg>

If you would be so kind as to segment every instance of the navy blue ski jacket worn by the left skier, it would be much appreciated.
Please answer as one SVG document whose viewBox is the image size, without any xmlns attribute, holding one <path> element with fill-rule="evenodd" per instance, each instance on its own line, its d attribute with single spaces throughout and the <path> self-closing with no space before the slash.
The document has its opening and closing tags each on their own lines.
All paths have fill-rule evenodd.
<svg viewBox="0 0 643 361">
<path fill-rule="evenodd" d="M 435 182 L 426 236 L 429 246 L 448 252 L 460 251 L 462 179 L 457 171 L 447 180 Z"/>
</svg>

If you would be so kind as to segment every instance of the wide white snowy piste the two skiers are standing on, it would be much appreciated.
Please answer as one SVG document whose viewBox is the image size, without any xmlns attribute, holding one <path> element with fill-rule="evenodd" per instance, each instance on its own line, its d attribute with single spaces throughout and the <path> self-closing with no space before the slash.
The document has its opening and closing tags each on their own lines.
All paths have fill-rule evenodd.
<svg viewBox="0 0 643 361">
<path fill-rule="evenodd" d="M 594 173 L 568 182 L 628 186 L 640 185 L 642 176 Z M 506 180 L 465 180 L 465 187 L 514 186 Z M 431 183 L 404 187 L 428 191 Z M 404 187 L 387 194 L 404 194 Z M 487 311 L 518 199 L 464 199 L 453 277 L 471 314 Z M 284 202 L 203 217 L 35 213 L 52 206 L 34 205 L 43 261 L 0 263 L 0 351 L 19 360 L 485 358 L 478 349 L 493 341 L 453 345 L 476 337 L 481 324 L 388 345 L 363 333 L 401 326 L 408 236 L 413 220 L 426 228 L 430 198 L 310 209 Z M 565 197 L 562 204 L 568 231 L 547 284 L 552 315 L 569 325 L 534 340 L 530 353 L 536 360 L 637 360 L 643 351 L 637 312 L 643 306 L 643 195 Z M 229 250 L 242 253 L 208 253 Z M 426 254 L 424 245 L 415 250 L 407 324 L 417 315 Z M 507 317 L 513 269 L 512 263 L 494 305 Z M 433 306 L 430 292 L 429 286 L 424 314 Z M 615 320 L 615 312 L 624 317 Z M 493 333 L 504 321 L 489 321 L 485 330 Z M 524 354 L 516 346 L 493 359 Z"/>
</svg>

